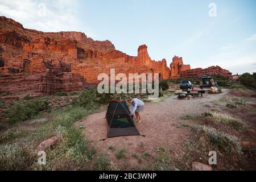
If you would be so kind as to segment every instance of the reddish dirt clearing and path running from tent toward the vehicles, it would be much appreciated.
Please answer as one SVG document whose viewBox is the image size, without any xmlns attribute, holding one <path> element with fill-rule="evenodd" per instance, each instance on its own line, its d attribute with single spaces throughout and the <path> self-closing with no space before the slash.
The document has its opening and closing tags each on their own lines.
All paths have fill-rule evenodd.
<svg viewBox="0 0 256 182">
<path fill-rule="evenodd" d="M 180 117 L 184 114 L 200 114 L 205 108 L 203 105 L 213 100 L 218 100 L 226 93 L 227 89 L 222 90 L 221 94 L 207 95 L 203 98 L 192 100 L 177 100 L 177 96 L 167 98 L 160 103 L 146 103 L 146 107 L 141 114 L 142 123 L 137 124 L 137 129 L 146 137 L 131 136 L 108 138 L 105 141 L 99 139 L 106 137 L 106 111 L 89 115 L 77 125 L 85 127 L 86 138 L 96 146 L 98 151 L 106 154 L 112 160 L 112 167 L 117 169 L 133 169 L 140 166 L 138 161 L 132 157 L 133 154 L 143 155 L 148 152 L 152 156 L 158 153 L 157 147 L 171 148 L 173 155 L 182 155 L 182 142 L 188 137 L 189 130 L 180 127 L 183 121 Z M 113 146 L 115 150 L 110 150 Z M 126 149 L 127 160 L 118 160 L 115 152 L 119 148 Z"/>
</svg>

